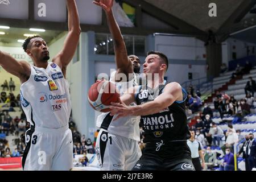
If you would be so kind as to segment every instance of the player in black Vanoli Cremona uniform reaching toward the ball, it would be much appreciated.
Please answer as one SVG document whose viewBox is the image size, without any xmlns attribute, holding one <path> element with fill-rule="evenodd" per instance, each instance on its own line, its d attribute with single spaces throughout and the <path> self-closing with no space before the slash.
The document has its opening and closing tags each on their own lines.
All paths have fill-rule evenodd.
<svg viewBox="0 0 256 182">
<path fill-rule="evenodd" d="M 185 114 L 187 93 L 180 84 L 164 85 L 168 59 L 160 52 L 149 52 L 143 64 L 147 84 L 127 90 L 119 104 L 112 103 L 111 115 L 141 115 L 146 143 L 133 170 L 195 171 L 187 146 L 190 133 Z M 128 106 L 137 102 L 137 106 Z"/>
</svg>

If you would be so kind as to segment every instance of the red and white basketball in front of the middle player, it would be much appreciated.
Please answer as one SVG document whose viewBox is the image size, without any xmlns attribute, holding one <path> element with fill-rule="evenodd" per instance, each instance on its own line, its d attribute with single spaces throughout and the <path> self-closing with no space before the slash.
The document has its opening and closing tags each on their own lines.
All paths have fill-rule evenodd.
<svg viewBox="0 0 256 182">
<path fill-rule="evenodd" d="M 88 91 L 88 101 L 93 109 L 101 112 L 109 112 L 111 102 L 118 102 L 120 94 L 115 84 L 109 81 L 97 81 Z"/>
</svg>

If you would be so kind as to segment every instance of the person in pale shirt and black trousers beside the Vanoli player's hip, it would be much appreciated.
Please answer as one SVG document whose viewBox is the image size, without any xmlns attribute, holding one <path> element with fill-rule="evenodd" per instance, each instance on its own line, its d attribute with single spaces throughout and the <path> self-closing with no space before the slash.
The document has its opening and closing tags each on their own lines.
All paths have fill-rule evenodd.
<svg viewBox="0 0 256 182">
<path fill-rule="evenodd" d="M 195 131 L 190 131 L 191 138 L 187 140 L 188 147 L 191 150 L 191 158 L 193 166 L 196 171 L 201 171 L 202 167 L 204 168 L 204 155 L 202 154 L 201 144 L 199 141 L 195 140 Z M 200 162 L 201 158 L 201 162 Z"/>
</svg>

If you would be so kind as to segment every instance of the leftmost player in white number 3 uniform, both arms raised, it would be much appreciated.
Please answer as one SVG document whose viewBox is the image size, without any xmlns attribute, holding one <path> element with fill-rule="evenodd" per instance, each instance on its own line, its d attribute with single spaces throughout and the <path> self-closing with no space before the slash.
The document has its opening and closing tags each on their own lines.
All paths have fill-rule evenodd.
<svg viewBox="0 0 256 182">
<path fill-rule="evenodd" d="M 72 133 L 68 129 L 71 100 L 65 73 L 81 30 L 75 0 L 67 0 L 67 9 L 68 35 L 52 62 L 48 62 L 48 47 L 40 36 L 27 38 L 23 44 L 33 65 L 0 51 L 0 65 L 20 78 L 20 100 L 30 122 L 22 158 L 24 170 L 64 171 L 73 167 Z"/>
</svg>

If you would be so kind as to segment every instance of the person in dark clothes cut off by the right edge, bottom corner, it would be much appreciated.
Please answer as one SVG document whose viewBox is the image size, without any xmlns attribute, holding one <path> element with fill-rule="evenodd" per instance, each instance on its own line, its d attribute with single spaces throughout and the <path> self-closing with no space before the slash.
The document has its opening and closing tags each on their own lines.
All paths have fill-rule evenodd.
<svg viewBox="0 0 256 182">
<path fill-rule="evenodd" d="M 252 133 L 249 134 L 249 169 L 256 168 L 256 140 L 254 139 L 254 135 Z"/>
</svg>

